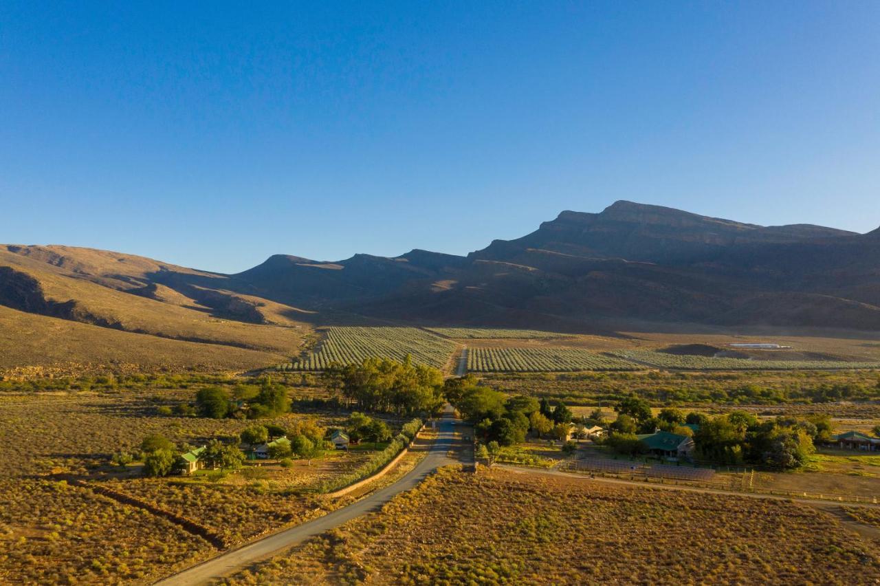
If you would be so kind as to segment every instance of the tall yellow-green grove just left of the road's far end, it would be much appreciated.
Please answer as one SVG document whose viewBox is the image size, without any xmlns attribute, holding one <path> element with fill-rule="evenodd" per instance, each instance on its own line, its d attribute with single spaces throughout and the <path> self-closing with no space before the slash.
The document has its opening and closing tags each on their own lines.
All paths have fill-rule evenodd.
<svg viewBox="0 0 880 586">
<path fill-rule="evenodd" d="M 331 392 L 340 392 L 348 406 L 362 411 L 398 415 L 435 414 L 444 405 L 443 373 L 386 358 L 367 358 L 360 364 L 332 365 L 323 374 Z"/>
</svg>

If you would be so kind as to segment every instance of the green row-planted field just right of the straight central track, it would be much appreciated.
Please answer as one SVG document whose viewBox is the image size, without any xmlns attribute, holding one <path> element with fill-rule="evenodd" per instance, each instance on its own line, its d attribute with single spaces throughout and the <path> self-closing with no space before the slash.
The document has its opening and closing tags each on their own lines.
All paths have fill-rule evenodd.
<svg viewBox="0 0 880 586">
<path fill-rule="evenodd" d="M 472 372 L 562 372 L 642 370 L 638 364 L 580 348 L 469 348 Z"/>
</svg>

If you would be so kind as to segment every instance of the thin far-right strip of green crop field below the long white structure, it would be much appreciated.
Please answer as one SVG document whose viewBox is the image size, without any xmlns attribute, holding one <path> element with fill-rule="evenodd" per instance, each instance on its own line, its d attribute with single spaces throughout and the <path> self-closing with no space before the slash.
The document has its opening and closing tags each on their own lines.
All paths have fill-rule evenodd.
<svg viewBox="0 0 880 586">
<path fill-rule="evenodd" d="M 616 350 L 610 354 L 624 360 L 674 370 L 840 370 L 878 369 L 880 363 L 847 363 L 833 360 L 750 360 L 748 358 L 712 358 L 674 355 L 654 350 Z"/>
</svg>

